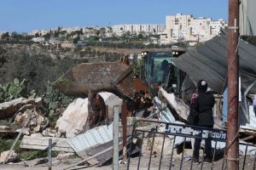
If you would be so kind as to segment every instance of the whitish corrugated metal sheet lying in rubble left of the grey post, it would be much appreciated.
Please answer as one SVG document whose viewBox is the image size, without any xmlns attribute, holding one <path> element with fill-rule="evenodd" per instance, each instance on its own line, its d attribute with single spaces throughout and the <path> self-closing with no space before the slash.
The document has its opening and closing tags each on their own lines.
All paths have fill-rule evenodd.
<svg viewBox="0 0 256 170">
<path fill-rule="evenodd" d="M 92 128 L 83 134 L 68 139 L 67 143 L 70 144 L 73 150 L 79 152 L 93 147 L 96 144 L 105 144 L 110 140 L 113 140 L 113 123 L 108 126 Z"/>
</svg>

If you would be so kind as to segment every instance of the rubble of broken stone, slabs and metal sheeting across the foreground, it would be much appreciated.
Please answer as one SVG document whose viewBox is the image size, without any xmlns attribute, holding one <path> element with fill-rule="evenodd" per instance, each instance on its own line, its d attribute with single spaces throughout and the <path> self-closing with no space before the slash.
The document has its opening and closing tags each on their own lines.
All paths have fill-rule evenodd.
<svg viewBox="0 0 256 170">
<path fill-rule="evenodd" d="M 102 166 L 104 163 L 110 161 L 113 158 L 113 107 L 119 106 L 119 113 L 121 112 L 121 107 L 123 104 L 122 99 L 110 93 L 100 93 L 105 105 L 107 105 L 108 112 L 108 122 L 96 122 L 95 127 L 88 127 L 89 122 L 89 109 L 88 109 L 88 99 L 74 99 L 73 103 L 68 105 L 66 111 L 64 111 L 56 122 L 55 127 L 50 127 L 48 117 L 42 115 L 40 111 L 40 99 L 35 99 L 37 102 L 33 101 L 33 104 L 20 105 L 19 109 L 16 109 L 14 113 L 9 114 L 8 117 L 13 117 L 13 123 L 11 127 L 1 126 L 1 133 L 16 133 L 17 138 L 21 139 L 20 148 L 24 150 L 48 150 L 49 149 L 49 139 L 52 140 L 52 145 L 50 148 L 52 150 L 60 151 L 61 155 L 58 156 L 74 156 L 77 155 L 83 159 L 80 163 L 86 162 L 87 166 L 96 165 Z M 161 99 L 162 98 L 162 99 Z M 218 100 L 218 98 L 217 98 Z M 23 99 L 24 101 L 24 99 Z M 32 100 L 30 99 L 30 102 Z M 14 101 L 8 103 L 0 104 L 0 113 L 4 110 L 7 111 L 9 107 L 13 107 Z M 218 105 L 221 102 L 216 102 Z M 7 106 L 9 105 L 9 107 Z M 16 104 L 15 104 L 16 105 Z M 169 105 L 169 107 L 167 107 Z M 169 109 L 169 108 L 172 108 Z M 215 106 L 218 108 L 218 106 Z M 189 106 L 186 105 L 182 99 L 178 99 L 174 94 L 168 94 L 162 88 L 160 88 L 159 96 L 154 97 L 154 106 L 150 108 L 150 114 L 148 117 L 144 117 L 147 120 L 155 120 L 166 123 L 176 123 L 183 126 L 186 117 L 189 114 Z M 217 111 L 215 109 L 214 111 Z M 142 113 L 141 113 L 142 112 Z M 250 107 L 250 112 L 252 108 Z M 136 119 L 143 116 L 144 110 L 137 112 L 134 116 L 127 118 L 127 128 L 126 135 L 131 136 L 132 125 Z M 218 114 L 215 114 L 218 116 Z M 254 119 L 252 116 L 251 118 Z M 255 118 L 256 119 L 256 118 Z M 107 118 L 106 118 L 107 120 Z M 119 122 L 119 132 L 122 132 L 122 127 L 124 123 Z M 221 127 L 215 124 L 215 127 Z M 149 123 L 140 124 L 138 129 L 144 129 L 148 132 L 158 129 L 158 132 L 165 133 L 166 127 L 163 127 L 159 123 Z M 152 135 L 146 136 L 143 140 L 142 134 L 137 135 L 137 139 L 129 140 L 127 138 L 127 147 L 135 145 L 135 149 L 131 151 L 131 154 L 137 154 L 141 151 L 143 156 L 151 155 L 159 156 L 162 152 L 162 139 L 160 137 L 152 137 Z M 252 133 L 251 136 L 254 136 Z M 22 137 L 20 137 L 22 136 Z M 192 143 L 194 140 L 184 139 L 182 137 L 173 140 L 173 136 L 168 136 L 165 140 L 165 145 L 170 147 L 175 147 L 178 152 L 178 145 L 184 143 Z M 248 136 L 244 136 L 247 139 Z M 119 146 L 122 145 L 123 136 L 119 137 Z M 126 139 L 126 137 L 125 137 Z M 123 141 L 124 142 L 124 141 Z M 136 143 L 136 144 L 135 144 Z M 15 143 L 13 144 L 15 145 Z M 218 149 L 224 149 L 225 144 L 218 145 Z M 249 148 L 254 150 L 253 148 Z M 248 149 L 248 150 L 249 150 Z M 119 151 L 122 147 L 119 147 Z M 188 155 L 191 155 L 188 152 Z M 168 156 L 169 150 L 164 150 L 163 156 Z M 178 156 L 177 156 L 178 157 Z M 2 162 L 17 161 L 17 154 L 13 150 L 6 150 L 1 154 Z M 78 165 L 77 163 L 76 165 Z"/>
</svg>

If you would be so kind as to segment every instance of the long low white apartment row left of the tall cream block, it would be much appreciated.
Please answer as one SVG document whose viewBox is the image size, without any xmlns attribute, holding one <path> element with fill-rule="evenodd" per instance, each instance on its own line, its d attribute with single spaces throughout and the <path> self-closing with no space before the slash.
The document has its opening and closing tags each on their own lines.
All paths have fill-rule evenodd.
<svg viewBox="0 0 256 170">
<path fill-rule="evenodd" d="M 164 32 L 166 29 L 165 25 L 156 25 L 156 24 L 132 24 L 132 25 L 116 25 L 111 26 L 113 29 L 113 33 L 119 35 L 122 35 L 123 33 L 130 31 L 131 34 L 134 33 L 152 33 L 152 34 L 158 34 L 160 32 Z"/>
</svg>

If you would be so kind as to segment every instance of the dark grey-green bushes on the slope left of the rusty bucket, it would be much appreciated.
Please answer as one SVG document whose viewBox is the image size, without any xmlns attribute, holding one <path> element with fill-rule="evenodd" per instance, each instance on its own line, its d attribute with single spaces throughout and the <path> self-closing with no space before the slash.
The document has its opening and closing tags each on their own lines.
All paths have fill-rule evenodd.
<svg viewBox="0 0 256 170">
<path fill-rule="evenodd" d="M 52 59 L 44 50 L 19 48 L 10 49 L 4 54 L 7 59 L 0 67 L 0 83 L 12 82 L 14 78 L 26 79 L 26 89 L 24 94 L 27 96 L 32 90 L 38 95 L 44 94 L 47 82 L 54 82 L 58 77 L 84 59 Z"/>
</svg>

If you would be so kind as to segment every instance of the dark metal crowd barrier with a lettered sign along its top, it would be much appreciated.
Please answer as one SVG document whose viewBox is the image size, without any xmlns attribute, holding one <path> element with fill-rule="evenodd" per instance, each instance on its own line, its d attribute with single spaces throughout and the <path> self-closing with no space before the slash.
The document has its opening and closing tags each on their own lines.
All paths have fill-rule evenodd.
<svg viewBox="0 0 256 170">
<path fill-rule="evenodd" d="M 155 123 L 156 125 L 163 125 L 166 126 L 165 132 L 159 132 L 157 126 L 154 128 L 154 130 L 145 130 L 143 128 L 138 128 L 137 124 L 147 124 L 147 123 Z M 158 122 L 158 121 L 151 121 L 151 120 L 138 120 L 133 125 L 133 131 L 131 134 L 131 141 L 134 139 L 141 139 L 142 141 L 146 138 L 151 139 L 150 144 L 150 153 L 149 155 L 143 154 L 145 150 L 143 150 L 143 142 L 141 142 L 140 151 L 138 156 L 131 158 L 131 151 L 128 150 L 128 162 L 127 162 L 127 170 L 129 169 L 226 169 L 226 158 L 225 158 L 225 140 L 226 140 L 226 131 L 215 129 L 215 128 L 207 128 L 207 127 L 196 127 L 196 126 L 189 126 L 184 124 L 176 124 L 176 123 L 168 123 L 168 122 Z M 155 137 L 162 138 L 162 144 L 160 148 L 160 158 L 156 160 L 156 157 L 154 157 L 154 140 Z M 170 145 L 165 145 L 166 138 L 171 137 L 172 138 L 172 147 Z M 183 137 L 183 143 L 182 143 L 182 155 L 175 160 L 175 165 L 173 163 L 173 155 L 174 155 L 174 149 L 177 138 Z M 191 157 L 189 157 L 189 160 L 191 161 L 184 161 L 184 150 L 186 149 L 186 140 L 187 139 L 211 139 L 212 144 L 212 162 L 207 162 L 209 164 L 206 165 L 204 155 L 205 155 L 205 149 L 203 149 L 203 156 L 202 161 L 200 164 L 195 166 L 193 162 L 193 154 L 191 154 Z M 217 149 L 217 144 L 223 144 L 224 147 Z M 256 145 L 253 144 L 245 144 L 240 143 L 240 148 L 245 147 L 245 151 L 243 152 L 243 156 L 240 156 L 239 160 L 239 169 L 255 169 L 256 164 Z M 252 150 L 253 147 L 253 156 L 251 155 L 251 158 L 247 159 L 247 152 L 248 148 Z M 255 147 L 255 148 L 254 148 Z M 131 148 L 131 146 L 130 146 Z M 144 147 L 145 148 L 145 147 Z M 170 157 L 164 157 L 163 152 L 166 151 L 166 149 L 170 150 Z M 194 148 L 192 146 L 192 148 Z M 218 158 L 216 157 L 216 153 L 218 150 Z M 194 151 L 194 150 L 193 150 Z M 193 151 L 191 153 L 193 153 Z M 147 155 L 147 156 L 146 156 Z M 252 159 L 253 158 L 253 159 Z M 131 165 L 132 161 L 132 165 Z M 152 166 L 152 162 L 154 161 L 154 165 Z M 180 162 L 178 162 L 180 161 Z M 143 164 L 142 164 L 143 162 Z M 146 162 L 146 164 L 145 164 Z M 158 164 L 158 165 L 157 165 Z M 184 167 L 185 166 L 185 167 Z M 194 167 L 194 168 L 193 168 Z"/>
</svg>

